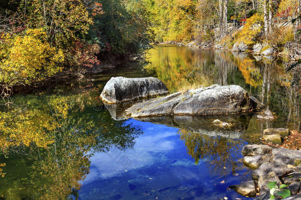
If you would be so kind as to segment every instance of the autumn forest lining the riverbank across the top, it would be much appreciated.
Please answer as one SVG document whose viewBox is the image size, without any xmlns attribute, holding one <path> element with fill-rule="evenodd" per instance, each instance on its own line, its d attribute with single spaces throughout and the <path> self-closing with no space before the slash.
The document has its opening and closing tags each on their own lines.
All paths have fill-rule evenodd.
<svg viewBox="0 0 301 200">
<path fill-rule="evenodd" d="M 261 51 L 301 54 L 301 0 L 0 2 L 1 96 L 15 85 L 128 61 L 166 41 L 209 41 L 224 49 L 262 43 Z"/>
</svg>

